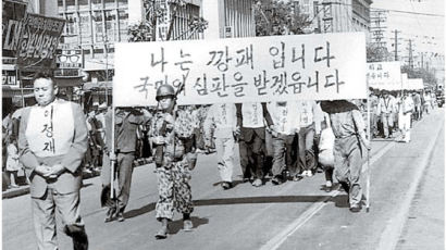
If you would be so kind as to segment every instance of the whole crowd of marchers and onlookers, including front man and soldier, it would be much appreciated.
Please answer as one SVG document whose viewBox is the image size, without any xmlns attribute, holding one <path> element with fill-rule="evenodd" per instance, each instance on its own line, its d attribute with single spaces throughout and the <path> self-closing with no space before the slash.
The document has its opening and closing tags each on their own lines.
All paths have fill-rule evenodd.
<svg viewBox="0 0 446 250">
<path fill-rule="evenodd" d="M 175 209 L 183 214 L 184 230 L 194 226 L 189 180 L 198 153 L 216 152 L 215 170 L 223 190 L 234 188 L 233 173 L 238 165 L 243 182 L 253 187 L 325 173 L 325 190 L 332 191 L 334 175 L 348 193 L 350 211 L 359 212 L 361 159 L 370 150 L 371 139 L 366 130 L 368 108 L 371 137 L 409 142 L 411 122 L 435 107 L 435 97 L 429 91 L 376 89 L 370 89 L 369 103 L 296 100 L 178 107 L 173 87 L 162 85 L 157 90 L 157 107 L 116 108 L 113 115 L 113 109 L 103 103 L 87 113 L 80 105 L 57 98 L 51 76 L 37 75 L 34 88 L 38 104 L 3 120 L 3 170 L 14 188 L 16 173 L 24 168 L 30 182 L 33 213 L 50 216 L 35 221 L 41 248 L 57 245 L 55 224 L 47 214 L 51 211 L 44 209 L 54 201 L 73 243 L 78 249 L 88 247 L 78 214 L 83 172 L 100 172 L 102 205 L 108 207 L 104 222 L 124 221 L 133 168 L 140 159 L 150 159 L 156 165 L 156 217 L 161 223 L 157 239 L 168 237 Z"/>
</svg>

